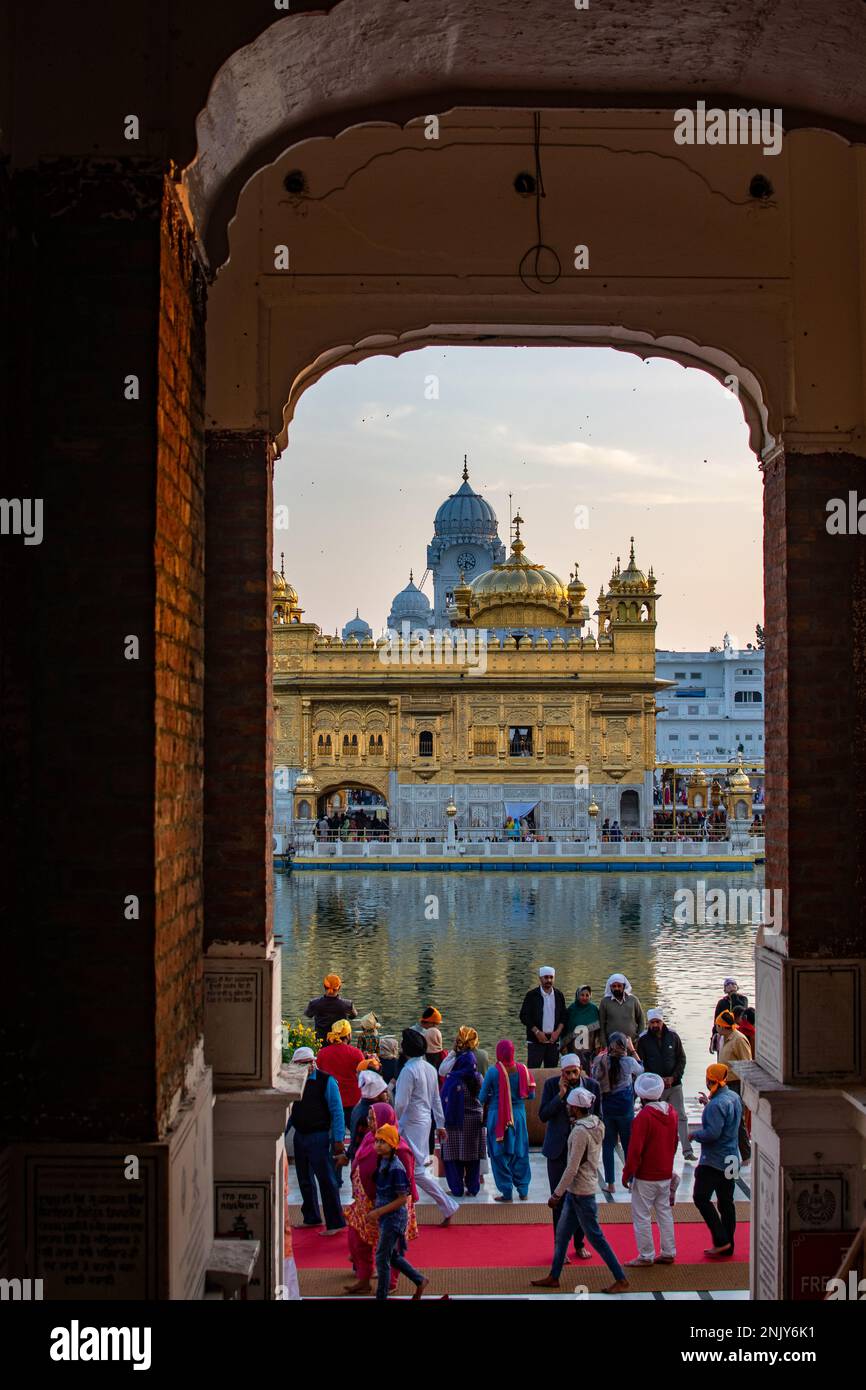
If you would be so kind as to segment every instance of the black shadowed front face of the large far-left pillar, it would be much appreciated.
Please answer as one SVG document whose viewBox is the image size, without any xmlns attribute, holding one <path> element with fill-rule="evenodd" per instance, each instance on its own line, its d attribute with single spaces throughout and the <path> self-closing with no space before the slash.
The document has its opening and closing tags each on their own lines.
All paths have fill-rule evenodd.
<svg viewBox="0 0 866 1390">
<path fill-rule="evenodd" d="M 154 1133 L 161 195 L 160 172 L 136 161 L 56 161 L 13 183 L 4 491 L 43 499 L 44 538 L 3 539 L 10 1136 Z M 124 399 L 128 373 L 138 402 Z M 128 894 L 139 920 L 124 916 Z"/>
</svg>

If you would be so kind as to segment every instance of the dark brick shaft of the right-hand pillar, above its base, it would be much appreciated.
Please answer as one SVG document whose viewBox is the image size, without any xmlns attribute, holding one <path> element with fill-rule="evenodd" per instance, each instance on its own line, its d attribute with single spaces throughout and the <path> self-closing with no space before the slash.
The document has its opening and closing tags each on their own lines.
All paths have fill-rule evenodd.
<svg viewBox="0 0 866 1390">
<path fill-rule="evenodd" d="M 826 527 L 849 489 L 852 455 L 765 467 L 767 887 L 791 955 L 866 948 L 866 535 Z"/>
</svg>

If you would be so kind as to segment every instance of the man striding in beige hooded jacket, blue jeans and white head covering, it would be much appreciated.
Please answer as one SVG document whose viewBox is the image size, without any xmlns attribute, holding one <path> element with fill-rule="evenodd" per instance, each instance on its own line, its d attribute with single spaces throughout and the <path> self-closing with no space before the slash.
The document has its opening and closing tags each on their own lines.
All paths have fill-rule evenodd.
<svg viewBox="0 0 866 1390">
<path fill-rule="evenodd" d="M 570 1091 L 566 1104 L 571 1122 L 569 1137 L 569 1163 L 553 1193 L 548 1198 L 548 1207 L 555 1207 L 563 1197 L 562 1215 L 556 1226 L 556 1243 L 553 1247 L 553 1264 L 546 1279 L 534 1279 L 537 1289 L 559 1289 L 569 1251 L 569 1241 L 580 1225 L 584 1238 L 602 1257 L 607 1269 L 613 1275 L 613 1283 L 603 1290 L 606 1294 L 624 1294 L 631 1287 L 626 1279 L 626 1272 L 613 1254 L 610 1245 L 602 1234 L 598 1223 L 595 1207 L 595 1190 L 598 1184 L 598 1165 L 602 1152 L 602 1138 L 605 1126 L 598 1115 L 592 1115 L 595 1097 L 585 1087 L 578 1086 Z"/>
</svg>

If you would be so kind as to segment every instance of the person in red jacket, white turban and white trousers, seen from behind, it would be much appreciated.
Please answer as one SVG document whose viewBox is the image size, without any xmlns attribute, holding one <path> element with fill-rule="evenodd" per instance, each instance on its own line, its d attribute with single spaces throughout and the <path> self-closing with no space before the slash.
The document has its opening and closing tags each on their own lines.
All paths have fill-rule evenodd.
<svg viewBox="0 0 866 1390">
<path fill-rule="evenodd" d="M 631 1187 L 631 1220 L 638 1254 L 627 1264 L 673 1265 L 677 1258 L 671 1187 L 678 1138 L 677 1112 L 662 1099 L 664 1081 L 653 1072 L 638 1076 L 634 1088 L 641 1099 L 641 1112 L 631 1126 L 623 1187 Z M 657 1255 L 652 1237 L 653 1211 L 662 1241 Z"/>
</svg>

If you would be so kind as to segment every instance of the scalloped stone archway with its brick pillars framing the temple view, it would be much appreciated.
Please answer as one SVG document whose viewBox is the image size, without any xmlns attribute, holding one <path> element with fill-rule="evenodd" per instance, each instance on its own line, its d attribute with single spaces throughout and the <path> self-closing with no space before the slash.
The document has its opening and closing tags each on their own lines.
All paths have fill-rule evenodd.
<svg viewBox="0 0 866 1390">
<path fill-rule="evenodd" d="M 734 0 L 684 19 L 676 0 L 662 0 L 652 13 L 638 6 L 620 17 L 614 42 L 595 14 L 539 0 L 542 38 L 527 53 L 525 17 L 493 0 L 396 11 L 385 0 L 313 3 L 328 14 L 296 13 L 274 25 L 264 10 L 170 3 L 177 29 L 168 47 L 147 7 L 129 10 L 133 39 L 121 38 L 107 0 L 86 13 L 60 7 L 47 26 L 36 13 L 15 24 L 17 64 L 51 72 L 70 120 L 43 135 L 43 83 L 19 81 L 10 103 L 15 120 L 0 135 L 10 156 L 0 172 L 8 195 L 0 203 L 8 253 L 0 322 L 17 334 L 1 382 L 7 491 L 44 495 L 64 517 L 63 543 L 43 553 L 0 548 L 4 587 L 17 596 L 4 614 L 11 792 L 3 813 L 14 872 L 3 891 L 8 949 L 22 977 L 39 981 L 7 1001 L 10 1251 L 18 1269 L 42 1273 L 39 1233 L 21 1226 L 31 1159 L 63 1163 L 61 1143 L 76 1143 L 96 1168 L 135 1143 L 164 1179 L 160 1193 L 170 1173 L 193 1172 L 206 1197 L 183 1219 L 179 1201 L 154 1197 L 149 1215 L 160 1258 L 132 1261 L 133 1294 L 197 1295 L 213 1230 L 203 1012 L 204 1001 L 231 1004 L 235 987 L 232 1027 L 224 1030 L 231 1045 L 210 1054 L 221 1093 L 217 1176 L 270 1172 L 279 1186 L 285 1091 L 272 1084 L 279 1058 L 271 1045 L 278 1001 L 268 906 L 270 468 L 295 382 L 341 345 L 353 352 L 381 336 L 391 350 L 431 325 L 455 334 L 514 325 L 520 339 L 538 322 L 549 334 L 619 324 L 657 342 L 676 335 L 716 345 L 748 363 L 760 384 L 753 399 L 766 400 L 766 427 L 778 442 L 763 459 L 767 874 L 784 894 L 785 922 L 759 948 L 766 1022 L 746 1095 L 760 1159 L 755 1289 L 780 1297 L 788 1290 L 785 1184 L 815 1165 L 817 1122 L 828 1138 L 822 1161 L 830 1154 L 848 1182 L 845 1220 L 859 1219 L 865 1195 L 847 1087 L 866 1074 L 866 819 L 855 803 L 847 835 L 833 827 L 835 787 L 859 785 L 866 773 L 866 577 L 853 532 L 830 537 L 824 516 L 827 499 L 863 491 L 866 215 L 862 149 L 845 142 L 862 142 L 866 129 L 866 14 L 853 0 L 830 14 L 805 3 L 756 14 L 751 0 Z M 691 53 L 713 53 L 712 71 L 692 64 L 687 95 L 670 43 L 683 24 Z M 295 40 L 303 42 L 289 53 Z M 90 57 L 86 68 L 67 61 L 78 50 Z M 780 51 L 788 63 L 777 61 Z M 324 81 L 329 61 L 339 70 L 334 83 Z M 111 92 L 118 72 L 124 101 L 135 92 L 138 143 L 124 133 L 120 103 L 89 100 L 100 63 Z M 339 106 L 325 90 L 341 93 Z M 573 110 L 574 92 L 584 111 Z M 257 93 L 274 121 L 256 106 Z M 659 153 L 671 108 L 698 96 L 785 108 L 773 196 L 749 193 L 753 152 L 728 149 L 709 168 L 706 149 Z M 587 277 L 570 274 L 541 299 L 516 277 L 532 234 L 523 235 L 517 218 L 531 207 L 513 189 L 537 107 L 553 113 L 545 140 L 556 117 L 562 145 L 556 156 L 544 152 L 545 235 L 563 256 L 578 242 L 595 247 Z M 428 110 L 457 113 L 453 149 L 439 145 L 438 171 L 428 160 L 413 183 L 417 175 L 403 165 L 417 164 L 425 149 Z M 361 131 L 370 121 L 379 124 Z M 569 142 L 577 153 L 566 153 Z M 293 165 L 303 160 L 321 171 L 313 192 L 328 199 L 286 200 L 286 150 Z M 341 174 L 341 161 L 348 178 L 338 192 L 339 179 L 324 179 Z M 393 196 L 398 179 L 385 171 L 398 168 L 411 197 Z M 178 170 L 186 171 L 183 183 Z M 403 220 L 396 245 L 388 240 L 395 206 Z M 292 272 L 275 275 L 272 256 L 270 265 L 257 256 L 284 240 L 286 221 Z M 524 221 L 531 228 L 531 215 Z M 203 247 L 207 267 L 197 260 Z M 207 403 L 206 272 L 217 274 L 211 349 L 222 345 L 210 353 Z M 120 373 L 136 378 L 138 396 L 124 398 Z M 107 495 L 115 503 L 111 528 Z M 75 595 L 88 614 L 83 639 L 57 624 L 56 594 Z M 138 664 L 115 660 L 129 632 L 140 639 Z M 44 835 L 57 785 L 76 795 L 60 842 Z M 33 883 L 57 891 L 33 899 Z M 126 897 L 138 902 L 135 926 L 118 908 Z M 71 942 L 82 930 L 89 949 L 76 956 Z M 213 967 L 218 977 L 204 988 L 203 937 L 206 973 Z M 247 1004 L 238 1002 L 236 976 Z M 820 1006 L 827 987 L 830 1029 Z M 53 1019 L 70 1006 L 79 1026 L 70 1029 L 58 1073 L 49 1040 Z M 122 1066 L 107 1066 L 120 1051 Z M 817 1101 L 809 1087 L 820 1091 Z M 33 1094 L 42 1097 L 36 1108 Z M 238 1115 L 253 1111 L 257 1137 L 238 1127 Z M 76 1187 L 71 1176 L 72 1197 Z M 265 1284 L 278 1276 L 275 1259 Z"/>
</svg>

